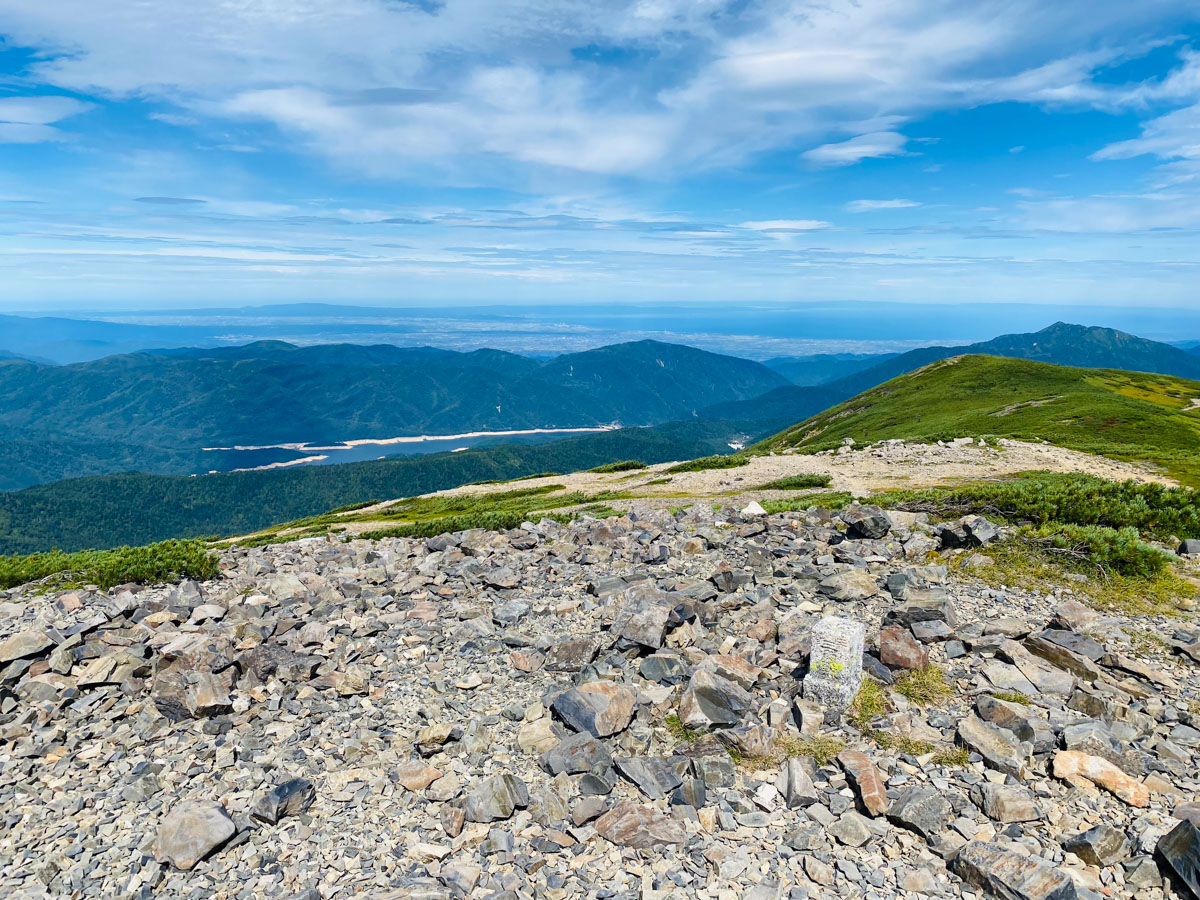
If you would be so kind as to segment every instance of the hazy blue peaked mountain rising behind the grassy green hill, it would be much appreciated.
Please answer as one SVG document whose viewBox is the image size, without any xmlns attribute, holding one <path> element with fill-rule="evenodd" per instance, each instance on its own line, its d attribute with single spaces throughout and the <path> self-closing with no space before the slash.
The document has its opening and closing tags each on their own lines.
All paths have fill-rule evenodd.
<svg viewBox="0 0 1200 900">
<path fill-rule="evenodd" d="M 1084 368 L 1123 368 L 1130 372 L 1200 378 L 1200 359 L 1158 341 L 1110 328 L 1069 325 L 1060 322 L 1027 335 L 1001 335 L 990 341 L 960 347 L 924 347 L 901 353 L 880 365 L 832 382 L 828 386 L 846 395 L 860 394 L 898 376 L 949 356 L 986 354 Z"/>
</svg>

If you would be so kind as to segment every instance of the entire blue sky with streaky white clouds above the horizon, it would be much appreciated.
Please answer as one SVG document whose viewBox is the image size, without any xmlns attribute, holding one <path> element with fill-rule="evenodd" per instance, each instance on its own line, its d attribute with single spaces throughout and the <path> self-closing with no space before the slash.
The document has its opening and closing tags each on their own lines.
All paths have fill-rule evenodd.
<svg viewBox="0 0 1200 900">
<path fill-rule="evenodd" d="M 1195 308 L 1194 0 L 0 0 L 0 308 Z"/>
</svg>

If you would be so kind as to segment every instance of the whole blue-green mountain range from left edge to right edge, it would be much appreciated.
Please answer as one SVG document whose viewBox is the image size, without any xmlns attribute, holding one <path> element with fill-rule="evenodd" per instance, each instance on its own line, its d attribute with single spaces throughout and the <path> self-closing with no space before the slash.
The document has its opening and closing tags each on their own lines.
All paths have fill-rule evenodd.
<svg viewBox="0 0 1200 900">
<path fill-rule="evenodd" d="M 62 336 L 78 326 L 71 319 L 41 322 Z M 280 341 L 144 350 L 61 366 L 11 353 L 0 361 L 0 490 L 130 470 L 224 472 L 311 455 L 277 449 L 281 444 L 673 420 L 734 422 L 760 434 L 964 354 L 1200 379 L 1198 354 L 1063 323 L 964 347 L 778 358 L 769 365 L 655 341 L 548 360 L 496 349 Z M 212 449 L 246 446 L 272 449 Z M 378 454 L 367 448 L 358 458 L 414 450 L 420 448 Z"/>
</svg>

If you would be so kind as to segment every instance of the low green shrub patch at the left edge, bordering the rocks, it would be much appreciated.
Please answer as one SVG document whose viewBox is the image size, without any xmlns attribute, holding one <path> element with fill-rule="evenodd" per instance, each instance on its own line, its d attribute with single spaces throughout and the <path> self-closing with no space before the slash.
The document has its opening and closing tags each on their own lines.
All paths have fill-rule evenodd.
<svg viewBox="0 0 1200 900">
<path fill-rule="evenodd" d="M 182 578 L 204 581 L 217 574 L 217 558 L 203 541 L 168 540 L 144 547 L 85 550 L 0 557 L 0 588 L 50 578 L 47 587 L 163 584 Z M 53 577 L 52 577 L 53 576 Z"/>
</svg>

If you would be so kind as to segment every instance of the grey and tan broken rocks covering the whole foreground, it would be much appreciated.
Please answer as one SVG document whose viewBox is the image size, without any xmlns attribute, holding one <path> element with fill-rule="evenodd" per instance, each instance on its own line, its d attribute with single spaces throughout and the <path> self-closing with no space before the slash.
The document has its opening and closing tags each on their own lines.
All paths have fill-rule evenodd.
<svg viewBox="0 0 1200 900">
<path fill-rule="evenodd" d="M 641 506 L 0 594 L 0 895 L 1200 895 L 1200 629 L 926 564 L 995 536 Z"/>
</svg>

